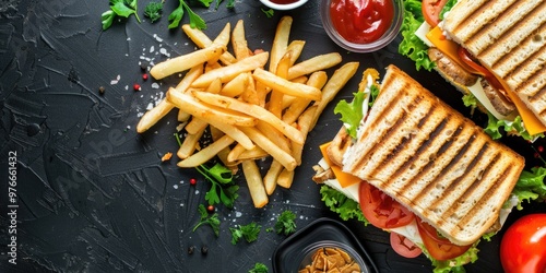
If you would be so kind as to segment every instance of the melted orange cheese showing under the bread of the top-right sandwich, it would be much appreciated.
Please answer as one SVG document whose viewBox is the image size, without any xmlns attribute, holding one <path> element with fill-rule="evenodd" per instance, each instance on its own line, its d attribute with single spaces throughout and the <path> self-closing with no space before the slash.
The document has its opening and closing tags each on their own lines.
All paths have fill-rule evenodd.
<svg viewBox="0 0 546 273">
<path fill-rule="evenodd" d="M 439 50 L 441 50 L 443 54 L 446 54 L 449 58 L 451 58 L 453 61 L 459 63 L 461 67 L 467 69 L 467 64 L 461 61 L 459 58 L 459 55 L 456 52 L 459 48 L 459 44 L 456 44 L 453 40 L 450 40 L 443 36 L 443 33 L 440 27 L 436 26 L 432 28 L 426 37 L 430 43 L 432 43 Z M 472 71 L 471 69 L 467 69 L 468 71 Z M 494 73 L 495 74 L 495 73 Z M 497 75 L 495 75 L 497 76 Z M 514 103 L 515 107 L 518 108 L 518 112 L 520 114 L 523 124 L 525 126 L 525 129 L 527 132 L 533 135 L 537 133 L 542 133 L 546 131 L 546 126 L 541 122 L 541 120 L 533 114 L 531 109 L 527 108 L 527 106 L 520 99 L 520 97 L 510 90 L 508 84 L 502 81 L 502 79 L 498 78 L 499 82 L 502 84 L 505 90 L 507 91 L 508 96 L 510 99 Z M 473 92 L 474 94 L 474 92 Z M 478 97 L 477 97 L 478 98 Z M 482 103 L 482 99 L 478 98 L 478 100 Z M 484 103 L 483 103 L 484 104 Z M 489 103 L 490 104 L 490 103 Z M 488 109 L 489 110 L 489 109 Z M 495 115 L 497 116 L 497 115 Z"/>
</svg>

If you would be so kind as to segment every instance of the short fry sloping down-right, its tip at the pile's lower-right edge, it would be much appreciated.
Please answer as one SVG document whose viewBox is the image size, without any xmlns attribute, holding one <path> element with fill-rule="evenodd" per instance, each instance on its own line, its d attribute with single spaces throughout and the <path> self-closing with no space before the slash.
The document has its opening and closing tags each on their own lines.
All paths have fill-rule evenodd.
<svg viewBox="0 0 546 273">
<path fill-rule="evenodd" d="M 286 169 L 293 170 L 296 168 L 296 159 L 292 157 L 289 153 L 275 145 L 275 143 L 258 131 L 258 129 L 254 127 L 239 127 L 239 129 L 247 134 L 256 143 L 256 145 L 260 146 L 265 152 L 271 154 L 273 158 L 277 159 Z"/>
</svg>

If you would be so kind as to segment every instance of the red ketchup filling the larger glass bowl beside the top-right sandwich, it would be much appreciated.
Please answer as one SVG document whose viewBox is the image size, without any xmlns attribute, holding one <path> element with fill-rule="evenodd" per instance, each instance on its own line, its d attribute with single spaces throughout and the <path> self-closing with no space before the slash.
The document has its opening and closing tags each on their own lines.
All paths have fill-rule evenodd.
<svg viewBox="0 0 546 273">
<path fill-rule="evenodd" d="M 389 29 L 394 7 L 391 0 L 332 0 L 330 16 L 343 38 L 365 44 L 379 39 Z"/>
</svg>

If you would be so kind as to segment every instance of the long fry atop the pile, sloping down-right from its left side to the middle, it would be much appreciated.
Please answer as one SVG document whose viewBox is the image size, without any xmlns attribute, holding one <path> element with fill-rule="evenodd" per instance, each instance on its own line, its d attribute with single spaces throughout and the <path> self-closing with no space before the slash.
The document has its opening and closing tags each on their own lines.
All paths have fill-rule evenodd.
<svg viewBox="0 0 546 273">
<path fill-rule="evenodd" d="M 178 108 L 185 109 L 185 111 L 207 122 L 210 120 L 216 120 L 217 122 L 242 127 L 254 126 L 257 122 L 253 117 L 216 106 L 205 105 L 189 94 L 173 92 L 173 88 L 167 92 L 167 100 Z"/>
</svg>

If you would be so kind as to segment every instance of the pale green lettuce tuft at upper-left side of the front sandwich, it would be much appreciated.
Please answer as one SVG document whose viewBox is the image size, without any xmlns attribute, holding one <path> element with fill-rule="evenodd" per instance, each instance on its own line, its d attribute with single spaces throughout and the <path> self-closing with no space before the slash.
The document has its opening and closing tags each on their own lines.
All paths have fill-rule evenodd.
<svg viewBox="0 0 546 273">
<path fill-rule="evenodd" d="M 358 129 L 360 120 L 364 118 L 363 104 L 366 94 L 364 92 L 357 92 L 354 95 L 355 98 L 351 102 L 351 104 L 345 99 L 340 100 L 334 108 L 334 114 L 342 115 L 341 120 L 344 122 L 348 134 L 353 139 L 356 139 L 356 130 Z"/>
</svg>

